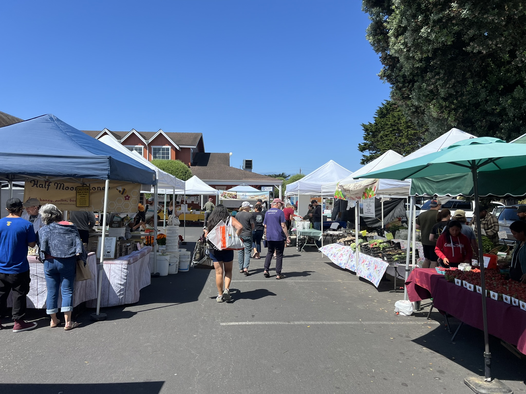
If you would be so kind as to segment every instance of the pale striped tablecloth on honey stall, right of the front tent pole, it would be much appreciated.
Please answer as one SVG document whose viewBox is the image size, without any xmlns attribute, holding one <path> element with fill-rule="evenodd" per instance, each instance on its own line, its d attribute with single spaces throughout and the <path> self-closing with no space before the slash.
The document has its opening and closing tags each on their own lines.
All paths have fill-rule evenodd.
<svg viewBox="0 0 526 394">
<path fill-rule="evenodd" d="M 151 246 L 144 246 L 127 256 L 104 261 L 104 271 L 101 271 L 101 307 L 138 302 L 140 289 L 150 284 L 151 250 Z M 87 307 L 96 308 L 97 300 L 88 301 Z"/>
</svg>

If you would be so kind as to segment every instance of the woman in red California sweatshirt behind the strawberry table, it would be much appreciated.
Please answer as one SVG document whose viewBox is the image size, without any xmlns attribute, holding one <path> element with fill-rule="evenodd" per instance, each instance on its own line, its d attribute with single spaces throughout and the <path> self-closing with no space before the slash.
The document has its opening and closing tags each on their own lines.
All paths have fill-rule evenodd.
<svg viewBox="0 0 526 394">
<path fill-rule="evenodd" d="M 473 255 L 471 242 L 461 230 L 462 224 L 452 220 L 438 238 L 434 253 L 442 259 L 442 266 L 458 267 L 460 263 L 471 264 Z"/>
</svg>

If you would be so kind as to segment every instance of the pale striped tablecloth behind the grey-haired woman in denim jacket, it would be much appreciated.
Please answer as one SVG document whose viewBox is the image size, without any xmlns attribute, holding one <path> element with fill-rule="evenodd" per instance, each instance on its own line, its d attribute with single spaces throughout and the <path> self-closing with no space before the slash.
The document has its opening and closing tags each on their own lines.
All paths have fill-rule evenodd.
<svg viewBox="0 0 526 394">
<path fill-rule="evenodd" d="M 31 284 L 27 297 L 28 308 L 45 308 L 47 298 L 46 277 L 44 275 L 44 264 L 37 260 L 37 256 L 27 256 L 29 261 L 29 277 Z M 87 264 L 92 278 L 82 282 L 75 282 L 73 292 L 73 306 L 77 306 L 89 299 L 97 298 L 97 258 L 95 253 L 88 254 Z M 62 304 L 62 297 L 58 295 L 58 306 Z M 7 306 L 13 306 L 13 294 L 7 298 Z"/>
</svg>

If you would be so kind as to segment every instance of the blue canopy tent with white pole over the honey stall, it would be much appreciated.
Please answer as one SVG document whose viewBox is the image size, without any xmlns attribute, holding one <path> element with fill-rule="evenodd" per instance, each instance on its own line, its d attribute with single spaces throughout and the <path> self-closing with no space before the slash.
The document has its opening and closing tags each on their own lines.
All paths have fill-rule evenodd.
<svg viewBox="0 0 526 394">
<path fill-rule="evenodd" d="M 7 180 L 11 190 L 13 181 L 25 181 L 26 177 L 106 180 L 100 250 L 104 250 L 109 180 L 155 185 L 157 200 L 154 170 L 54 115 L 42 115 L 2 127 L 0 138 L 0 179 Z M 103 269 L 103 262 L 104 253 L 101 253 L 99 271 Z M 97 319 L 105 318 L 104 314 L 99 314 L 101 283 L 102 275 L 99 273 L 97 313 L 92 315 Z"/>
</svg>

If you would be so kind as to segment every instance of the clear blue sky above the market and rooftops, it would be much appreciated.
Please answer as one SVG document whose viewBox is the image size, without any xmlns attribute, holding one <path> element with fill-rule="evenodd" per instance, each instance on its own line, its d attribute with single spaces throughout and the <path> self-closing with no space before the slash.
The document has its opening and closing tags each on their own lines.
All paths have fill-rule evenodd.
<svg viewBox="0 0 526 394">
<path fill-rule="evenodd" d="M 389 86 L 358 0 L 2 2 L 0 111 L 201 132 L 260 173 L 359 168 Z M 25 141 L 21 141 L 24 143 Z"/>
</svg>

